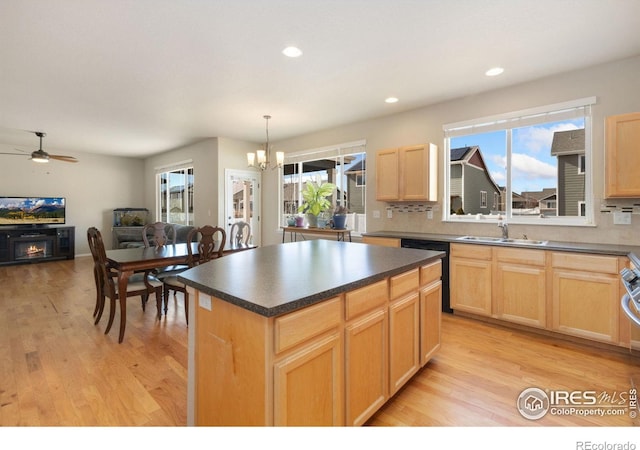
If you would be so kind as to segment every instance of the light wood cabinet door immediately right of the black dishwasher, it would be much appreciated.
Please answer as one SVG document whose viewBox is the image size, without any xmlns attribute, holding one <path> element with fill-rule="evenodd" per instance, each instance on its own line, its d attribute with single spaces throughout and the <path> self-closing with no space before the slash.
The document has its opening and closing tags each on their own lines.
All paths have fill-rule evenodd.
<svg viewBox="0 0 640 450">
<path fill-rule="evenodd" d="M 451 258 L 451 307 L 491 315 L 491 260 Z"/>
</svg>

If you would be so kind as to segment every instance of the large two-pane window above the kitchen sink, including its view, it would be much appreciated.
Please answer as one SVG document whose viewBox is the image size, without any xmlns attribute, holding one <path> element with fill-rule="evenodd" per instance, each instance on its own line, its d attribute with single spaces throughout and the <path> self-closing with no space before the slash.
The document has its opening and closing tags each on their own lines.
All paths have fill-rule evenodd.
<svg viewBox="0 0 640 450">
<path fill-rule="evenodd" d="M 594 103 L 587 98 L 445 125 L 445 220 L 592 224 Z"/>
</svg>

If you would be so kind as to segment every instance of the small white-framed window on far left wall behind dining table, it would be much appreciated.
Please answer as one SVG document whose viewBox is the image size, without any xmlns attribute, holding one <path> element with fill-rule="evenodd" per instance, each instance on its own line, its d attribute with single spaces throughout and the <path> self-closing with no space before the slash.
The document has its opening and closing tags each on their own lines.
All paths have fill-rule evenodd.
<svg viewBox="0 0 640 450">
<path fill-rule="evenodd" d="M 193 185 L 193 166 L 190 161 L 156 168 L 156 220 L 193 225 Z"/>
</svg>

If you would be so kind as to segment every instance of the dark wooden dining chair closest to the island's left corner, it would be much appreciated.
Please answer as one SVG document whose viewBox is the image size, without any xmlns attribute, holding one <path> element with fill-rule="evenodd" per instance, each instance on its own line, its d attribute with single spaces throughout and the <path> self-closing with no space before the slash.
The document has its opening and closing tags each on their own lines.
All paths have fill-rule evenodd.
<svg viewBox="0 0 640 450">
<path fill-rule="evenodd" d="M 214 227 L 211 225 L 205 225 L 200 228 L 194 228 L 189 232 L 187 242 L 197 242 L 198 252 L 193 253 L 193 249 L 189 247 L 188 264 L 189 267 L 195 267 L 205 262 L 211 261 L 215 258 L 221 258 L 224 252 L 224 245 L 227 240 L 227 234 L 224 228 Z M 165 299 L 165 312 L 167 308 L 167 301 L 169 299 L 169 292 L 174 292 L 174 298 L 177 292 L 182 292 L 184 296 L 184 315 L 189 325 L 189 293 L 184 283 L 178 280 L 178 275 L 168 276 L 163 278 L 164 282 L 164 299 Z"/>
</svg>

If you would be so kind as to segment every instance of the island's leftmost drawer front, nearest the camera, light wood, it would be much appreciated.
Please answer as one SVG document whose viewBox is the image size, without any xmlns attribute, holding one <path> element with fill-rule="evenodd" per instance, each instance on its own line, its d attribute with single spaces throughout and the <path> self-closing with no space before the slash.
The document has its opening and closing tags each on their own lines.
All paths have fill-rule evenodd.
<svg viewBox="0 0 640 450">
<path fill-rule="evenodd" d="M 292 312 L 275 320 L 275 352 L 306 341 L 340 325 L 340 297 Z"/>
</svg>

